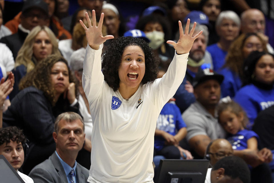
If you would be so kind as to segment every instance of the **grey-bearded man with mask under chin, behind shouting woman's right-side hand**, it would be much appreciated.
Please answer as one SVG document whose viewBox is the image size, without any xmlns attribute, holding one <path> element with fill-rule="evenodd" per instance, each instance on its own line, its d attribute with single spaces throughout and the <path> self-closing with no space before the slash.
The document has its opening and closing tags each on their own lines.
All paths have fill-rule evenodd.
<svg viewBox="0 0 274 183">
<path fill-rule="evenodd" d="M 190 27 L 192 26 L 193 23 L 190 24 Z M 198 33 L 199 31 L 203 31 L 203 33 L 194 41 L 193 46 L 190 49 L 186 76 L 174 95 L 174 98 L 176 99 L 175 103 L 180 108 L 181 113 L 183 113 L 190 106 L 190 104 L 195 102 L 195 96 L 192 88 L 193 79 L 196 73 L 201 70 L 201 65 L 206 62 L 205 51 L 208 41 L 207 27 L 197 23 L 194 33 Z"/>
</svg>

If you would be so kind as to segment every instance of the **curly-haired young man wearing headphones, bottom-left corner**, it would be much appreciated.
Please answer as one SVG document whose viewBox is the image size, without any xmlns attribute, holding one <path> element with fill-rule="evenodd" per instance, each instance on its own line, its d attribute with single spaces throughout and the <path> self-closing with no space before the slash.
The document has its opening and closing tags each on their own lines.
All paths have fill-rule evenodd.
<svg viewBox="0 0 274 183">
<path fill-rule="evenodd" d="M 19 130 L 15 126 L 0 129 L 0 155 L 8 160 L 25 183 L 33 183 L 29 176 L 18 171 L 24 162 L 24 151 L 27 150 L 26 142 L 23 130 Z"/>
</svg>

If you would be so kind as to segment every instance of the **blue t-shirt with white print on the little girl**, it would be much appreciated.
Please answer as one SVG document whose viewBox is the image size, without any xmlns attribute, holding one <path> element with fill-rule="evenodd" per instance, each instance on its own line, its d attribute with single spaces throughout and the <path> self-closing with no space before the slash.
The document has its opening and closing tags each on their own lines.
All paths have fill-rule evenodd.
<svg viewBox="0 0 274 183">
<path fill-rule="evenodd" d="M 247 148 L 247 140 L 252 137 L 256 137 L 257 141 L 259 141 L 259 136 L 255 132 L 244 129 L 235 135 L 230 134 L 227 140 L 232 145 L 233 150 L 243 150 Z"/>
</svg>

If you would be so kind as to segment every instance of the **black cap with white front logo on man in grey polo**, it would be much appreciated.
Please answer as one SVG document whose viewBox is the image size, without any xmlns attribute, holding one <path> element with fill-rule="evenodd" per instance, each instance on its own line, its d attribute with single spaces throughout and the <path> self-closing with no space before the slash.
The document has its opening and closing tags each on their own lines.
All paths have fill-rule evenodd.
<svg viewBox="0 0 274 183">
<path fill-rule="evenodd" d="M 223 78 L 223 75 L 214 72 L 212 69 L 205 68 L 198 71 L 198 73 L 196 74 L 193 81 L 193 87 L 195 88 L 197 85 L 209 79 L 215 79 L 221 84 L 223 82 Z"/>
</svg>

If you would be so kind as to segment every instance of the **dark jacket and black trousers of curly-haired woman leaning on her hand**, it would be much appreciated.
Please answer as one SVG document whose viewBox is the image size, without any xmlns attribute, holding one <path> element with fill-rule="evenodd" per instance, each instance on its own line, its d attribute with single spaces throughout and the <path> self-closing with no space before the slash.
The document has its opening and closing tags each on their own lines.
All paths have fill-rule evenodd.
<svg viewBox="0 0 274 183">
<path fill-rule="evenodd" d="M 43 91 L 31 86 L 20 91 L 3 113 L 3 127 L 17 126 L 29 140 L 29 150 L 23 164 L 28 174 L 37 164 L 46 160 L 55 151 L 53 130 L 55 118 L 63 112 L 79 112 L 78 102 L 70 106 L 63 95 L 53 107 Z"/>
</svg>

